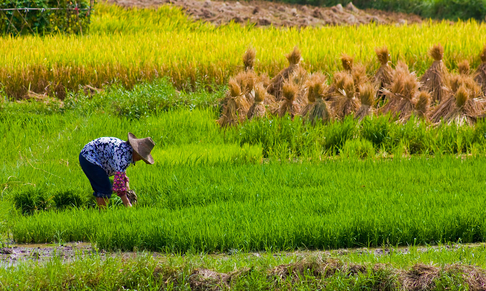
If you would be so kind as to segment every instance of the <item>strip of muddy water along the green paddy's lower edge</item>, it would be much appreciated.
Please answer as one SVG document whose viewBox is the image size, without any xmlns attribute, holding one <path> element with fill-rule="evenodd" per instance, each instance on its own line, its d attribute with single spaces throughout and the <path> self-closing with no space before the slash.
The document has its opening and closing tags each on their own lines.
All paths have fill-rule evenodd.
<svg viewBox="0 0 486 291">
<path fill-rule="evenodd" d="M 470 243 L 470 244 L 445 244 L 445 245 L 431 245 L 418 246 L 414 250 L 418 252 L 426 252 L 433 250 L 453 250 L 460 247 L 486 247 L 486 243 Z M 391 252 L 398 252 L 407 254 L 410 252 L 410 247 L 380 247 L 380 248 L 348 248 L 335 250 L 296 250 L 293 252 L 278 252 L 274 256 L 299 256 L 299 255 L 327 255 L 339 256 L 347 254 L 372 254 L 376 256 L 388 255 Z M 89 242 L 68 242 L 62 245 L 54 243 L 14 243 L 6 244 L 6 247 L 0 248 L 0 266 L 8 268 L 15 266 L 22 261 L 43 262 L 58 257 L 63 260 L 72 260 L 83 256 L 91 256 L 93 254 L 102 254 L 104 256 L 123 256 L 132 257 L 136 255 L 134 252 L 106 252 L 104 250 L 97 250 Z M 232 253 L 214 254 L 217 257 L 228 257 Z M 154 257 L 164 257 L 161 254 L 153 253 Z M 250 256 L 260 257 L 260 253 L 249 253 Z"/>
</svg>

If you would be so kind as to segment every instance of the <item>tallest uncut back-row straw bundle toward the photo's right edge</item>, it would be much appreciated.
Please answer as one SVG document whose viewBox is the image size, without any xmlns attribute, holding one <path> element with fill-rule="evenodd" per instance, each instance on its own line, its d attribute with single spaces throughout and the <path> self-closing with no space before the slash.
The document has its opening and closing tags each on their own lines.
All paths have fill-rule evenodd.
<svg viewBox="0 0 486 291">
<path fill-rule="evenodd" d="M 422 76 L 423 89 L 432 95 L 432 101 L 440 103 L 447 98 L 446 76 L 448 70 L 442 58 L 444 48 L 437 44 L 429 50 L 429 55 L 434 59 L 434 63 Z"/>
</svg>

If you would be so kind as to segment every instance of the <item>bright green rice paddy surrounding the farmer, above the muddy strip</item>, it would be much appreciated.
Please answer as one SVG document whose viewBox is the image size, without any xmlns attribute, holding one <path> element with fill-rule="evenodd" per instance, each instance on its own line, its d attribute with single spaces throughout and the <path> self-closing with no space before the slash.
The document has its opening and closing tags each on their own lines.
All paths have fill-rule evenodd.
<svg viewBox="0 0 486 291">
<path fill-rule="evenodd" d="M 36 102 L 2 107 L 1 142 L 12 146 L 2 155 L 0 220 L 9 236 L 18 242 L 92 241 L 104 249 L 167 252 L 485 239 L 481 122 L 430 128 L 375 118 L 369 120 L 366 130 L 374 133 L 368 139 L 366 122 L 358 126 L 353 119 L 308 127 L 287 116 L 223 131 L 210 109 L 150 112 L 139 119 L 112 114 L 117 111 L 110 107 L 111 94 L 118 104 L 125 96 L 143 104 L 143 96 L 152 96 L 150 87 L 174 90 L 147 84 L 124 95 L 114 90 L 91 99 L 79 96 L 83 106 L 61 113 L 35 113 L 43 108 Z M 40 206 L 31 215 L 16 208 L 32 191 L 89 200 L 89 183 L 76 160 L 80 149 L 99 136 L 125 138 L 127 131 L 152 136 L 157 144 L 154 166 L 137 164 L 127 171 L 139 194 L 137 208 L 114 206 L 100 213 L 85 202 L 66 210 Z M 433 159 L 410 157 L 405 151 L 412 149 L 406 146 L 410 136 L 444 151 L 436 149 Z M 393 160 L 386 158 L 387 145 L 395 145 Z M 474 157 L 441 157 L 456 150 Z M 356 151 L 371 158 L 361 160 L 365 155 Z M 411 159 L 401 159 L 404 155 Z"/>
</svg>

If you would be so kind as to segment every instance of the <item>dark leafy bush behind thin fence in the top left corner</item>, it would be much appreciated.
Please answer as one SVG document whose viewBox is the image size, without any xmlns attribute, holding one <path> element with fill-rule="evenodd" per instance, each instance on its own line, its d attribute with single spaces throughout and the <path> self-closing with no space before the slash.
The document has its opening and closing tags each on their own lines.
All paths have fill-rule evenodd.
<svg viewBox="0 0 486 291">
<path fill-rule="evenodd" d="M 0 14 L 3 34 L 83 33 L 89 27 L 89 0 L 0 0 L 0 8 L 65 8 L 67 10 L 6 10 Z M 10 23 L 12 19 L 12 23 Z M 24 20 L 25 19 L 25 20 Z M 27 22 L 27 23 L 25 23 Z"/>
</svg>

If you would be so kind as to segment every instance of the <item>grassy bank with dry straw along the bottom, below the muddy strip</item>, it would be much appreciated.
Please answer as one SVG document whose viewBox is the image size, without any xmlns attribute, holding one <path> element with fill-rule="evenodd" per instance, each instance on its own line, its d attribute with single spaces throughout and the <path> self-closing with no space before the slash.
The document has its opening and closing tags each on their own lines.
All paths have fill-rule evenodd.
<svg viewBox="0 0 486 291">
<path fill-rule="evenodd" d="M 99 254 L 0 269 L 0 290 L 481 290 L 485 248 L 368 253 Z M 53 275 L 55 274 L 55 275 Z"/>
</svg>

